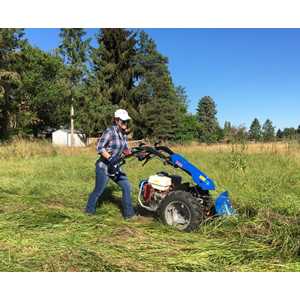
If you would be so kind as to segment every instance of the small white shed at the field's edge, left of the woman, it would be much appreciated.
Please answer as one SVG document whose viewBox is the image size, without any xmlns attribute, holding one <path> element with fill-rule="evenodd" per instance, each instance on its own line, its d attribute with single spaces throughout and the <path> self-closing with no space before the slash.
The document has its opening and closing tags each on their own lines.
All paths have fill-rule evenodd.
<svg viewBox="0 0 300 300">
<path fill-rule="evenodd" d="M 58 129 L 52 132 L 52 144 L 61 146 L 71 146 L 71 131 L 68 129 Z M 85 147 L 85 136 L 74 131 L 74 147 Z"/>
</svg>

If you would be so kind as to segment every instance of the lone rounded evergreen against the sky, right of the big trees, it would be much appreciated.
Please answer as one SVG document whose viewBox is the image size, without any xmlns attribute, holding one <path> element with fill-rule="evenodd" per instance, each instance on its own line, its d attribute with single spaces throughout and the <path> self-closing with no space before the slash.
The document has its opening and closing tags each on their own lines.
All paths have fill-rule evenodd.
<svg viewBox="0 0 300 300">
<path fill-rule="evenodd" d="M 218 141 L 219 124 L 216 115 L 217 109 L 214 100 L 210 96 L 202 97 L 197 108 L 201 142 L 213 143 Z"/>
</svg>

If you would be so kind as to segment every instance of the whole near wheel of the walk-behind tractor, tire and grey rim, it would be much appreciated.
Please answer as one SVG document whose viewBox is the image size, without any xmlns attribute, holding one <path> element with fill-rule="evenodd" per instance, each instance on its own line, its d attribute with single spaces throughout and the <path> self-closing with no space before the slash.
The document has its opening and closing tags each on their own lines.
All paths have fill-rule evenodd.
<svg viewBox="0 0 300 300">
<path fill-rule="evenodd" d="M 184 191 L 171 192 L 160 203 L 158 212 L 164 224 L 186 232 L 197 229 L 205 218 L 203 205 Z"/>
</svg>

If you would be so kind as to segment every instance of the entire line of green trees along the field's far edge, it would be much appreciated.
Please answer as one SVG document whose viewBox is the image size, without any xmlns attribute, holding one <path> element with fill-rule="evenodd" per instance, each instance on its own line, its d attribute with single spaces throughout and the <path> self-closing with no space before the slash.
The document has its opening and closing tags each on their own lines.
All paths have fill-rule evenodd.
<svg viewBox="0 0 300 300">
<path fill-rule="evenodd" d="M 132 116 L 134 139 L 213 143 L 275 139 L 270 120 L 250 130 L 217 120 L 210 96 L 202 97 L 197 112 L 188 112 L 185 88 L 176 86 L 168 58 L 143 30 L 99 29 L 92 46 L 84 29 L 61 29 L 51 52 L 32 46 L 23 29 L 0 29 L 0 139 L 39 137 L 47 130 L 69 128 L 87 136 L 111 124 L 114 110 Z M 277 132 L 277 138 L 299 136 L 298 129 Z"/>
</svg>

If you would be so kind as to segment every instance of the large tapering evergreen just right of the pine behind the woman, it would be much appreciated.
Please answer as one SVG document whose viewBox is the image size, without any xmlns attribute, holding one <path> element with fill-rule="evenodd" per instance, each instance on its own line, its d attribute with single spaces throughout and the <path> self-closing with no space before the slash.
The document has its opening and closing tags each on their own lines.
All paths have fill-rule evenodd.
<svg viewBox="0 0 300 300">
<path fill-rule="evenodd" d="M 185 91 L 174 87 L 168 59 L 155 42 L 140 32 L 134 63 L 135 87 L 130 97 L 134 118 L 134 137 L 175 139 L 182 131 L 186 113 Z"/>
</svg>

